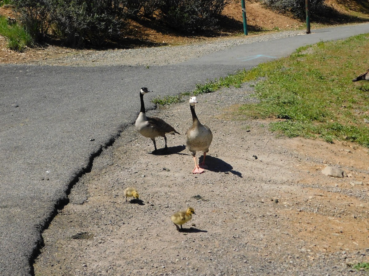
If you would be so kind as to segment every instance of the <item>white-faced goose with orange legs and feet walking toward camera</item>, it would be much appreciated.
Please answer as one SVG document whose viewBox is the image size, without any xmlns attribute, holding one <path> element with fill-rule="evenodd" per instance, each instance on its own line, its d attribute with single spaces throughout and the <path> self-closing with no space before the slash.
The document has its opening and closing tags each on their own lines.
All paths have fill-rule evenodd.
<svg viewBox="0 0 369 276">
<path fill-rule="evenodd" d="M 186 131 L 186 145 L 189 151 L 192 153 L 193 160 L 195 162 L 195 168 L 192 173 L 202 173 L 203 168 L 207 168 L 205 164 L 205 156 L 209 151 L 209 146 L 213 140 L 213 134 L 210 128 L 206 125 L 202 125 L 195 113 L 195 104 L 198 103 L 196 97 L 190 98 L 190 109 L 192 113 L 192 127 Z M 201 164 L 196 162 L 196 151 L 204 152 L 204 159 Z"/>
</svg>

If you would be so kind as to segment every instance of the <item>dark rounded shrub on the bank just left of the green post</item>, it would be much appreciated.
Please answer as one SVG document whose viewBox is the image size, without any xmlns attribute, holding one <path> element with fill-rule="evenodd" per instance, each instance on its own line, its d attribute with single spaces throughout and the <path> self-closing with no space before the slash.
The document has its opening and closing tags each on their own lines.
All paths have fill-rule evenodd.
<svg viewBox="0 0 369 276">
<path fill-rule="evenodd" d="M 161 14 L 171 28 L 184 32 L 215 29 L 227 0 L 163 0 Z"/>
</svg>

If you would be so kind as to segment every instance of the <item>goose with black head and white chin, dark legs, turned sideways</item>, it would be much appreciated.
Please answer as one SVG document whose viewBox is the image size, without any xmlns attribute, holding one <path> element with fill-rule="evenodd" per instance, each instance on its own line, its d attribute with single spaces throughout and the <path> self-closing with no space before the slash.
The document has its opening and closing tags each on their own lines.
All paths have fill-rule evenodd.
<svg viewBox="0 0 369 276">
<path fill-rule="evenodd" d="M 137 131 L 145 137 L 148 137 L 154 142 L 154 152 L 156 149 L 156 142 L 155 137 L 164 137 L 165 140 L 165 150 L 168 149 L 168 146 L 166 145 L 166 137 L 165 134 L 180 134 L 177 132 L 171 125 L 165 123 L 161 118 L 157 117 L 146 117 L 145 113 L 145 105 L 144 105 L 144 94 L 152 92 L 151 90 L 147 89 L 146 87 L 142 87 L 141 91 L 139 93 L 139 97 L 141 99 L 141 110 L 138 114 L 138 118 L 136 120 L 136 129 Z"/>
</svg>

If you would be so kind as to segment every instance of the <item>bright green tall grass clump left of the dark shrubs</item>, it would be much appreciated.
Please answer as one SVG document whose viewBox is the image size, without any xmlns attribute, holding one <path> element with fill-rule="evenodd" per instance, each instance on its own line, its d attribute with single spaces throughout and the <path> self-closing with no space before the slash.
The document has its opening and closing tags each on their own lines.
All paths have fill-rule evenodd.
<svg viewBox="0 0 369 276">
<path fill-rule="evenodd" d="M 32 46 L 31 35 L 18 24 L 8 24 L 5 17 L 0 16 L 0 35 L 5 36 L 8 41 L 8 48 L 18 52 L 23 52 L 26 46 Z"/>
</svg>

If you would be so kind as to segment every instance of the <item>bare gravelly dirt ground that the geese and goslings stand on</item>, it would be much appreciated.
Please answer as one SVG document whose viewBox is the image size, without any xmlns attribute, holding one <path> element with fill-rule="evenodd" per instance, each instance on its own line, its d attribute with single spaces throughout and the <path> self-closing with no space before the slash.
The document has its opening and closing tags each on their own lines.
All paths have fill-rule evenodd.
<svg viewBox="0 0 369 276">
<path fill-rule="evenodd" d="M 197 97 L 214 135 L 202 174 L 184 146 L 187 99 L 147 112 L 182 134 L 168 135 L 169 153 L 124 129 L 43 233 L 35 275 L 366 275 L 352 265 L 369 262 L 368 149 L 235 119 L 253 85 Z M 347 177 L 325 176 L 326 166 Z M 125 202 L 128 186 L 139 200 Z M 196 215 L 179 233 L 170 215 L 187 206 Z"/>
</svg>

